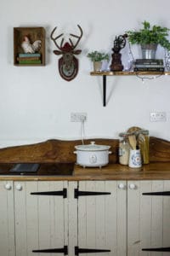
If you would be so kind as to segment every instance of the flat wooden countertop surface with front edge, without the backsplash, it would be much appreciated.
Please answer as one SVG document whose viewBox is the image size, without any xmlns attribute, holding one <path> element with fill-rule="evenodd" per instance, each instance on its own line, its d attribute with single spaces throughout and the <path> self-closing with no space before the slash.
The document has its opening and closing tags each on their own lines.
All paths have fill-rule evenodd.
<svg viewBox="0 0 170 256">
<path fill-rule="evenodd" d="M 170 162 L 152 162 L 141 168 L 111 164 L 100 168 L 74 166 L 72 175 L 0 175 L 0 180 L 14 181 L 80 181 L 80 180 L 166 180 L 170 179 Z"/>
</svg>

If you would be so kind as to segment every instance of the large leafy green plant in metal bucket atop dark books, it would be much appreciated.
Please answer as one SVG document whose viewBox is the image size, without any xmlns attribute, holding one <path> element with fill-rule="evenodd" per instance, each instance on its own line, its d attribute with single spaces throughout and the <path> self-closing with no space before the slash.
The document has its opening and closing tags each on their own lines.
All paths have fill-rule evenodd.
<svg viewBox="0 0 170 256">
<path fill-rule="evenodd" d="M 170 50 L 170 42 L 167 39 L 169 28 L 163 26 L 150 26 L 150 22 L 144 20 L 143 28 L 139 31 L 127 31 L 127 38 L 131 44 L 140 44 L 142 57 L 155 58 L 157 45 Z"/>
</svg>

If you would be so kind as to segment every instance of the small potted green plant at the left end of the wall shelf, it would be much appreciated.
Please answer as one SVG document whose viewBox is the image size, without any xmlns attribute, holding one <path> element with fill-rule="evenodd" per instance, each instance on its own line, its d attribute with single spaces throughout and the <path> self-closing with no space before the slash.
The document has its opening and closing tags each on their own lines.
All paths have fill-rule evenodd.
<svg viewBox="0 0 170 256">
<path fill-rule="evenodd" d="M 109 55 L 104 52 L 94 50 L 89 52 L 87 57 L 94 62 L 94 71 L 100 71 L 102 67 L 102 61 L 109 61 Z"/>
</svg>

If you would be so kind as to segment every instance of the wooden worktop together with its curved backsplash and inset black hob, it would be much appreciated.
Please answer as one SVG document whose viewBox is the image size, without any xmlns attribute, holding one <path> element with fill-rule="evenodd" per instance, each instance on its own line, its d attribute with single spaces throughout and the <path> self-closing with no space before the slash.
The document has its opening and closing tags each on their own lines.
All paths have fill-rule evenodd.
<svg viewBox="0 0 170 256">
<path fill-rule="evenodd" d="M 90 143 L 87 140 L 85 143 Z M 150 164 L 129 168 L 118 164 L 118 140 L 93 139 L 110 145 L 110 164 L 102 168 L 77 166 L 75 145 L 81 141 L 49 140 L 44 143 L 0 149 L 0 180 L 148 180 L 170 179 L 170 142 L 150 137 Z M 38 163 L 37 173 L 10 172 L 16 163 Z"/>
</svg>

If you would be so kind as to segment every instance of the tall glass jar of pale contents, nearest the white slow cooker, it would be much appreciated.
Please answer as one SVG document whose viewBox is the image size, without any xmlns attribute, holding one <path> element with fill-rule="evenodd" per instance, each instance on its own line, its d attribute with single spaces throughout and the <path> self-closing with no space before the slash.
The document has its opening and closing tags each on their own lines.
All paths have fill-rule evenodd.
<svg viewBox="0 0 170 256">
<path fill-rule="evenodd" d="M 119 163 L 121 165 L 128 165 L 130 145 L 128 143 L 127 133 L 119 134 Z"/>
</svg>

